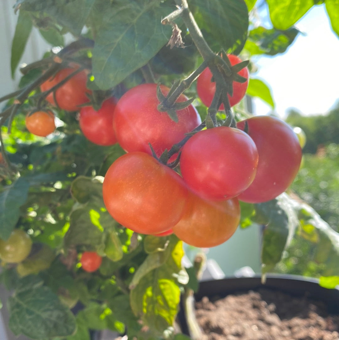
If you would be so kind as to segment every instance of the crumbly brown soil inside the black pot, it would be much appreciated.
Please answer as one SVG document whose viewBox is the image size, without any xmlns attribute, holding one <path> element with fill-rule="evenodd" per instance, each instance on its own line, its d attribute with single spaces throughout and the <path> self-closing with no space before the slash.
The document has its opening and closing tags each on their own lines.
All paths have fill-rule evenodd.
<svg viewBox="0 0 339 340">
<path fill-rule="evenodd" d="M 260 289 L 196 303 L 202 340 L 339 340 L 339 316 L 323 303 Z"/>
</svg>

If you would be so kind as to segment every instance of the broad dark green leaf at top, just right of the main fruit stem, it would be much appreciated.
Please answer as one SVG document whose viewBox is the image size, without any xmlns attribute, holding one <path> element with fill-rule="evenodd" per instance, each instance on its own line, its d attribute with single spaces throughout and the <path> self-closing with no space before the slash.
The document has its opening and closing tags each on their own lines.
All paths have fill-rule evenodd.
<svg viewBox="0 0 339 340">
<path fill-rule="evenodd" d="M 191 0 L 194 18 L 215 51 L 239 54 L 247 39 L 248 10 L 244 0 Z"/>
</svg>

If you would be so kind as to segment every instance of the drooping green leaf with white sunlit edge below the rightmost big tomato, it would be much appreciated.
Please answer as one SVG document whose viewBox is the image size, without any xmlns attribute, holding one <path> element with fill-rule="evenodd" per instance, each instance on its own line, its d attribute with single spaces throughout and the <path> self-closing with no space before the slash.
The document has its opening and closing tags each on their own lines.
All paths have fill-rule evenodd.
<svg viewBox="0 0 339 340">
<path fill-rule="evenodd" d="M 290 198 L 283 193 L 276 199 L 255 205 L 256 223 L 264 224 L 261 261 L 262 273 L 271 271 L 281 259 L 282 252 L 291 242 L 299 224 Z"/>
</svg>

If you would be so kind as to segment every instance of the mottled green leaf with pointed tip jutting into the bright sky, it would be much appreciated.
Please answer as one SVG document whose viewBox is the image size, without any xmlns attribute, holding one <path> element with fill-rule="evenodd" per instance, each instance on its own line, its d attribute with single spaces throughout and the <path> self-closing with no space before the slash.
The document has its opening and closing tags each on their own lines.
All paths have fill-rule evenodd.
<svg viewBox="0 0 339 340">
<path fill-rule="evenodd" d="M 259 26 L 249 32 L 244 49 L 252 55 L 284 53 L 299 33 L 300 31 L 295 27 L 282 31 Z"/>
</svg>

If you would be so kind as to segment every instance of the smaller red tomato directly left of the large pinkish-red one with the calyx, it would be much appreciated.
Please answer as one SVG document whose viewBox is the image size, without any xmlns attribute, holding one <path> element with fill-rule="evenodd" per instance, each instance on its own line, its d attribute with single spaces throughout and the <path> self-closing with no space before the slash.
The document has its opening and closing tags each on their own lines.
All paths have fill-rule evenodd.
<svg viewBox="0 0 339 340">
<path fill-rule="evenodd" d="M 105 100 L 98 111 L 92 106 L 84 106 L 80 109 L 79 124 L 84 136 L 91 142 L 108 146 L 116 143 L 113 130 L 113 111 L 116 100 Z"/>
</svg>

